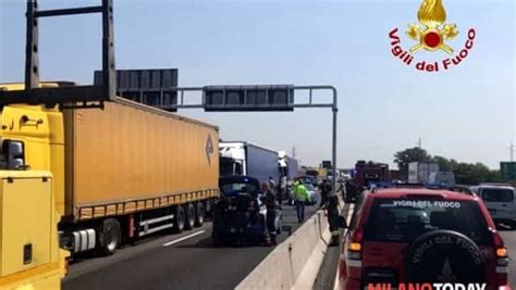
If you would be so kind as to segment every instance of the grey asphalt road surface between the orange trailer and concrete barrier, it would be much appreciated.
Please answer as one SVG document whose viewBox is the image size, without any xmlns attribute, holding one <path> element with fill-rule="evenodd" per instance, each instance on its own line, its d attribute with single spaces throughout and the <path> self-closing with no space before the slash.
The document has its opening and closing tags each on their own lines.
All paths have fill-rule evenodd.
<svg viewBox="0 0 516 290">
<path fill-rule="evenodd" d="M 306 217 L 316 206 L 306 207 Z M 294 206 L 283 206 L 283 226 L 300 224 Z M 287 234 L 279 237 L 279 242 Z M 63 290 L 82 289 L 233 289 L 272 247 L 214 248 L 211 223 L 180 235 L 155 236 L 114 255 L 83 259 L 70 266 Z M 281 270 L 281 269 L 278 269 Z"/>
</svg>

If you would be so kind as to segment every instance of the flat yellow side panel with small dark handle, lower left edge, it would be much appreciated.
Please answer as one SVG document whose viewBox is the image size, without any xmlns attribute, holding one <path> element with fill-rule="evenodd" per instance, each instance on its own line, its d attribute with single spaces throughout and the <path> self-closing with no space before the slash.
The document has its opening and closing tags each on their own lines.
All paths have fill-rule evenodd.
<svg viewBox="0 0 516 290">
<path fill-rule="evenodd" d="M 52 182 L 0 172 L 0 277 L 47 264 L 51 259 Z"/>
</svg>

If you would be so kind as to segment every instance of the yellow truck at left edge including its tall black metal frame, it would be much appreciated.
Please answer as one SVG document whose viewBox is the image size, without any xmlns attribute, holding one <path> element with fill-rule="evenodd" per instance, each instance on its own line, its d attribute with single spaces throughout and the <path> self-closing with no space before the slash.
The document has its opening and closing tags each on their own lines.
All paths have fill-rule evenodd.
<svg viewBox="0 0 516 290">
<path fill-rule="evenodd" d="M 61 289 L 69 252 L 60 248 L 63 214 L 65 105 L 114 98 L 113 3 L 38 10 L 26 0 L 25 81 L 0 86 L 0 289 Z M 102 15 L 102 86 L 39 83 L 40 17 Z M 10 70 L 9 67 L 3 67 Z M 64 85 L 64 84 L 63 84 Z M 83 97 L 77 97 L 83 96 Z M 61 191 L 61 192 L 57 192 Z"/>
</svg>

